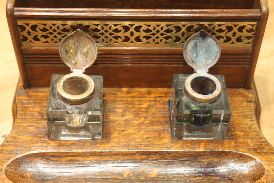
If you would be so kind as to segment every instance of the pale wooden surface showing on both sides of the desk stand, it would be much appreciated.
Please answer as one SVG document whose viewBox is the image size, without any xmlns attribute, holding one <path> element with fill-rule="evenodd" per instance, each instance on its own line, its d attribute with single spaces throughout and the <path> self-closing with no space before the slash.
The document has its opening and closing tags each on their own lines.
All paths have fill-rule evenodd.
<svg viewBox="0 0 274 183">
<path fill-rule="evenodd" d="M 262 106 L 262 133 L 274 146 L 274 0 L 268 2 L 269 19 L 254 79 Z M 6 22 L 5 3 L 6 0 L 0 0 L 0 144 L 12 128 L 12 100 L 19 77 Z"/>
</svg>

